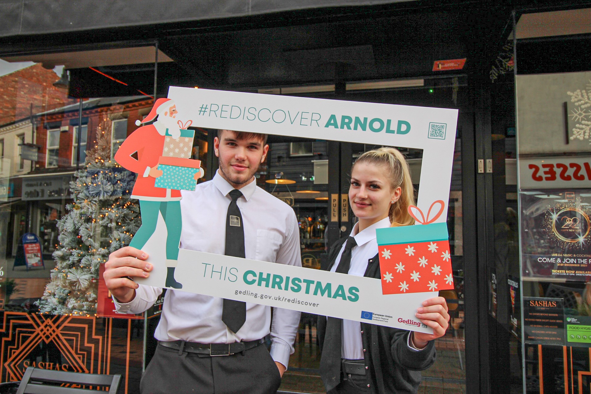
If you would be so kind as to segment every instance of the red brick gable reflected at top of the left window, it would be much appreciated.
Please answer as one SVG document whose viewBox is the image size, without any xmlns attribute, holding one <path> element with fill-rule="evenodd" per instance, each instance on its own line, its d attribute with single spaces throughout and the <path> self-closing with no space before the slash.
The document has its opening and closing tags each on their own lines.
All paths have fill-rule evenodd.
<svg viewBox="0 0 591 394">
<path fill-rule="evenodd" d="M 53 86 L 59 76 L 41 64 L 0 77 L 0 125 L 27 118 L 33 113 L 76 102 L 67 98 L 67 89 Z"/>
</svg>

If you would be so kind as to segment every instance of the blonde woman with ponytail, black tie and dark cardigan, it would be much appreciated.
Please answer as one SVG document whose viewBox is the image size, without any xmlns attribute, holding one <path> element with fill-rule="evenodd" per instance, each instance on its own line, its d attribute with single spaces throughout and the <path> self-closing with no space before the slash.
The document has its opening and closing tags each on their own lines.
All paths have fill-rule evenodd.
<svg viewBox="0 0 591 394">
<path fill-rule="evenodd" d="M 349 203 L 359 222 L 330 249 L 329 270 L 380 278 L 375 230 L 414 224 L 408 214 L 413 183 L 404 156 L 394 148 L 359 156 L 351 169 Z M 327 392 L 416 393 L 420 371 L 435 361 L 433 340 L 447 330 L 445 299 L 427 299 L 416 316 L 433 334 L 320 316 L 320 375 Z"/>
</svg>

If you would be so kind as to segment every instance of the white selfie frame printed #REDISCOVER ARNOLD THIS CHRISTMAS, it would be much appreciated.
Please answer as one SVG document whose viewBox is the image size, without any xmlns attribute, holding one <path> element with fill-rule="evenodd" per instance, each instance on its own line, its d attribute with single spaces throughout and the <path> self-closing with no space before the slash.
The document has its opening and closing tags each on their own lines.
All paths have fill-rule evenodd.
<svg viewBox="0 0 591 394">
<path fill-rule="evenodd" d="M 426 212 L 434 201 L 446 201 L 436 221 L 446 222 L 456 109 L 174 86 L 168 90 L 168 98 L 176 103 L 178 119 L 203 128 L 423 149 L 417 207 Z M 139 284 L 164 287 L 166 257 L 161 240 L 165 237 L 160 217 L 143 248 L 154 269 L 150 278 L 138 278 Z M 223 266 L 223 275 L 209 275 L 211 265 L 216 271 Z M 437 292 L 383 295 L 379 279 L 186 249 L 180 249 L 176 270 L 177 278 L 183 278 L 181 291 L 432 333 L 415 312 Z M 272 281 L 259 281 L 259 273 L 270 273 L 271 278 L 300 278 L 303 285 L 298 291 L 293 291 L 297 286 L 267 286 Z"/>
</svg>

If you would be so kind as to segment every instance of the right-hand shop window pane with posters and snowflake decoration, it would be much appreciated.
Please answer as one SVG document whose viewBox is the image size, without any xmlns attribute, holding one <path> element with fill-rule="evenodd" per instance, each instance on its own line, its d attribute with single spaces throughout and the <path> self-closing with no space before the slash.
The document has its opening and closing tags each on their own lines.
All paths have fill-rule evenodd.
<svg viewBox="0 0 591 394">
<path fill-rule="evenodd" d="M 525 393 L 591 390 L 591 57 L 581 50 L 591 29 L 563 24 L 590 16 L 590 9 L 569 9 L 516 21 L 515 318 Z"/>
</svg>

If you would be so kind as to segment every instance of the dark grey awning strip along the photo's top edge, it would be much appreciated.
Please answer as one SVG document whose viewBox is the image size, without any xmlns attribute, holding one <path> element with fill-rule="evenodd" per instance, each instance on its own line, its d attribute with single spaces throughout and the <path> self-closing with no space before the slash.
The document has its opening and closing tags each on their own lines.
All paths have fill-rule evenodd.
<svg viewBox="0 0 591 394">
<path fill-rule="evenodd" d="M 411 0 L 3 0 L 0 37 L 407 1 Z"/>
</svg>

